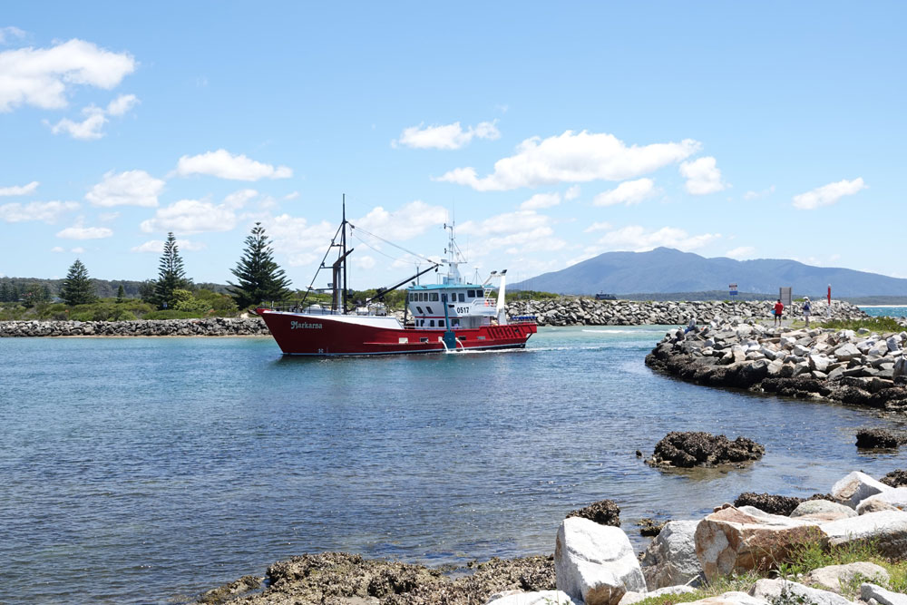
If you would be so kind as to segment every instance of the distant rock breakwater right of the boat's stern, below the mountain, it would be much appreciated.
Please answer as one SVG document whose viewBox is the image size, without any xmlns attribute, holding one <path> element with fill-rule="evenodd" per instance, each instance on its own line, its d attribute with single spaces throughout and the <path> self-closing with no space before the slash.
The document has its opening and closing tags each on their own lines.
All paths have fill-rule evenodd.
<svg viewBox="0 0 907 605">
<path fill-rule="evenodd" d="M 507 305 L 507 314 L 510 317 L 535 316 L 540 326 L 670 326 L 686 325 L 690 316 L 696 316 L 699 323 L 720 323 L 729 317 L 771 320 L 770 307 L 770 303 L 764 300 L 635 301 L 563 297 L 514 300 Z M 824 312 L 824 306 L 818 308 L 814 320 L 824 319 Z M 859 307 L 839 300 L 832 301 L 832 319 L 863 317 L 867 316 Z"/>
</svg>

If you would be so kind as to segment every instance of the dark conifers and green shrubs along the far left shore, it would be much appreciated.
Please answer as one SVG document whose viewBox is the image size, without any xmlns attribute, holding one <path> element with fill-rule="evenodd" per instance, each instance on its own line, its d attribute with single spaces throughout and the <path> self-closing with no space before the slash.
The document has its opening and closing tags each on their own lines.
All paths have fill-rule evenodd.
<svg viewBox="0 0 907 605">
<path fill-rule="evenodd" d="M 141 298 L 159 309 L 204 311 L 210 307 L 212 295 L 220 297 L 221 290 L 225 290 L 223 293 L 229 295 L 240 309 L 266 300 L 284 300 L 291 294 L 290 281 L 274 261 L 270 239 L 261 223 L 255 223 L 245 240 L 242 256 L 230 272 L 236 281 L 228 281 L 229 286 L 226 288 L 218 284 L 193 283 L 192 279 L 186 277 L 180 249 L 171 232 L 164 242 L 158 264 L 158 278 L 142 282 L 120 282 L 116 298 L 117 302 L 122 302 L 125 298 Z M 4 278 L 0 280 L 0 302 L 24 302 L 29 305 L 50 301 L 53 298 L 49 285 L 51 283 L 54 281 Z M 105 281 L 103 285 L 107 289 L 115 283 Z M 91 304 L 101 298 L 99 284 L 89 276 L 88 268 L 81 259 L 73 262 L 66 278 L 58 284 L 59 296 L 67 305 Z M 103 295 L 106 295 L 104 298 L 111 298 L 112 291 L 104 292 Z"/>
</svg>

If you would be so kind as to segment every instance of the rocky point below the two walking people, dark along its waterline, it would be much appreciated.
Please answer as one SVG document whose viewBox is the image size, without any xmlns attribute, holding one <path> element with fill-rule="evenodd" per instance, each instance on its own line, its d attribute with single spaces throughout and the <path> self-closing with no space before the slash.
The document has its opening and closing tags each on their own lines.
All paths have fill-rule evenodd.
<svg viewBox="0 0 907 605">
<path fill-rule="evenodd" d="M 782 330 L 741 318 L 671 330 L 646 365 L 702 385 L 907 409 L 907 332 Z"/>
</svg>

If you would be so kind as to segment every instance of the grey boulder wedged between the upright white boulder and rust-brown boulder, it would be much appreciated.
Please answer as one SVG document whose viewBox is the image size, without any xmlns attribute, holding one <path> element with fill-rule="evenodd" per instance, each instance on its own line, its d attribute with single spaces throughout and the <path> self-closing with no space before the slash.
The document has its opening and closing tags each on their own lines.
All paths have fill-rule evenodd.
<svg viewBox="0 0 907 605">
<path fill-rule="evenodd" d="M 671 521 L 642 555 L 642 573 L 649 590 L 686 584 L 702 575 L 696 556 L 698 521 Z"/>
</svg>

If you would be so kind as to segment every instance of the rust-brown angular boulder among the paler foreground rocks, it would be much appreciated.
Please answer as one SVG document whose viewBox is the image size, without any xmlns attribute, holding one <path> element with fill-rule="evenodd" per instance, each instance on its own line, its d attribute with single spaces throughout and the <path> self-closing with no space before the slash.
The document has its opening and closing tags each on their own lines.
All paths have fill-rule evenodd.
<svg viewBox="0 0 907 605">
<path fill-rule="evenodd" d="M 729 506 L 699 522 L 696 555 L 707 581 L 713 581 L 733 571 L 767 570 L 798 545 L 822 536 L 815 522 Z"/>
</svg>

